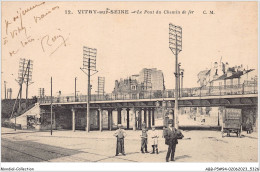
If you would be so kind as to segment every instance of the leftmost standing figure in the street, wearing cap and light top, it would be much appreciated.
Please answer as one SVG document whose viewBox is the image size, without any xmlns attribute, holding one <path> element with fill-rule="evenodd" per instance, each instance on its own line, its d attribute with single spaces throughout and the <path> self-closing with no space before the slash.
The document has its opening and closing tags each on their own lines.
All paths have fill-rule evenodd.
<svg viewBox="0 0 260 172">
<path fill-rule="evenodd" d="M 122 155 L 125 155 L 125 148 L 124 148 L 124 138 L 126 137 L 126 132 L 123 129 L 122 124 L 118 124 L 118 128 L 114 134 L 115 137 L 117 137 L 116 141 L 116 156 L 118 156 L 119 153 Z"/>
</svg>

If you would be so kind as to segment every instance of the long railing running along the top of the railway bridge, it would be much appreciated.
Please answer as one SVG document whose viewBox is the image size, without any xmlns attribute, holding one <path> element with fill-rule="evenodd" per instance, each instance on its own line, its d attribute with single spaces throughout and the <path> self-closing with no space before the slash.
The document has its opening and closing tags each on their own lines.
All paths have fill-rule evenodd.
<svg viewBox="0 0 260 172">
<path fill-rule="evenodd" d="M 225 85 L 225 86 L 207 86 L 182 88 L 179 92 L 180 97 L 205 97 L 205 96 L 223 96 L 223 95 L 243 95 L 257 94 L 257 83 Z M 144 90 L 139 93 L 106 93 L 104 95 L 91 95 L 91 101 L 111 101 L 111 100 L 138 100 L 138 99 L 160 99 L 174 98 L 175 90 Z M 53 103 L 86 102 L 87 95 L 75 96 L 57 96 L 53 97 Z M 50 103 L 51 97 L 45 96 L 38 99 L 40 103 Z"/>
</svg>

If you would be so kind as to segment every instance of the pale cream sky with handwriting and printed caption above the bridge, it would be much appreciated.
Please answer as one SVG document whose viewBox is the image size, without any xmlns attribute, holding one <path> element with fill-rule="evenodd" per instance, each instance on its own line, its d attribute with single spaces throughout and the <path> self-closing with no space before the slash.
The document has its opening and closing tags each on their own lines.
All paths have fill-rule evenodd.
<svg viewBox="0 0 260 172">
<path fill-rule="evenodd" d="M 129 10 L 129 14 L 78 14 L 78 10 Z M 137 10 L 142 14 L 132 13 Z M 167 10 L 175 14 L 164 14 Z M 173 89 L 175 56 L 169 49 L 169 23 L 183 29 L 178 58 L 185 88 L 198 86 L 198 72 L 221 57 L 229 66 L 258 70 L 257 22 L 257 2 L 3 2 L 2 98 L 4 81 L 13 89 L 13 98 L 18 94 L 20 58 L 33 60 L 29 97 L 38 95 L 39 88 L 50 95 L 51 77 L 53 95 L 73 94 L 75 77 L 77 90 L 86 94 L 87 76 L 80 69 L 83 46 L 97 49 L 99 72 L 91 77 L 92 93 L 98 76 L 105 77 L 105 92 L 111 93 L 115 80 L 142 68 L 162 70 L 166 89 Z"/>
</svg>

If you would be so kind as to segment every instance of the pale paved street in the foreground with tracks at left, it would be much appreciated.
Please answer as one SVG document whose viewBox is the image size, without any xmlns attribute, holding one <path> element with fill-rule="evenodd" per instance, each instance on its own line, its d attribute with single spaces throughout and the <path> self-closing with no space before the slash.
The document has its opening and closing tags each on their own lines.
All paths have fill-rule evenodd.
<svg viewBox="0 0 260 172">
<path fill-rule="evenodd" d="M 126 131 L 126 156 L 115 156 L 114 131 L 33 132 L 2 128 L 2 162 L 165 162 L 167 146 L 159 139 L 159 154 L 140 153 L 141 131 Z M 162 130 L 159 131 L 162 134 Z M 256 162 L 257 133 L 222 138 L 219 131 L 183 131 L 176 162 Z M 151 148 L 149 148 L 151 151 Z"/>
</svg>

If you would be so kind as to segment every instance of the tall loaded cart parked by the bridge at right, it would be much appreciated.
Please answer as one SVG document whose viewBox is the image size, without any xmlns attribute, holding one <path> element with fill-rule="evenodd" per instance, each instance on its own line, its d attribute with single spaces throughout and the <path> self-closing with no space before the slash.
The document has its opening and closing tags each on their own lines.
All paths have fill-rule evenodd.
<svg viewBox="0 0 260 172">
<path fill-rule="evenodd" d="M 230 133 L 236 133 L 240 137 L 242 132 L 242 112 L 241 109 L 226 108 L 223 117 L 222 137 L 224 133 L 230 136 Z"/>
</svg>

